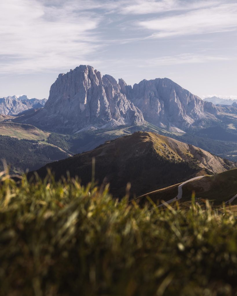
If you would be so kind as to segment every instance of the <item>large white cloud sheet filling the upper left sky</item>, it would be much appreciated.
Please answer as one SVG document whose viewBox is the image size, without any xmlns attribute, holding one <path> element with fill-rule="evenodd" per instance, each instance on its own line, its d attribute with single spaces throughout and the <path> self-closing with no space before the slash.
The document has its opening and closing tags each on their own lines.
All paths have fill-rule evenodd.
<svg viewBox="0 0 237 296">
<path fill-rule="evenodd" d="M 1 72 L 68 66 L 100 48 L 93 30 L 101 17 L 64 3 L 49 7 L 34 0 L 1 2 Z"/>
</svg>

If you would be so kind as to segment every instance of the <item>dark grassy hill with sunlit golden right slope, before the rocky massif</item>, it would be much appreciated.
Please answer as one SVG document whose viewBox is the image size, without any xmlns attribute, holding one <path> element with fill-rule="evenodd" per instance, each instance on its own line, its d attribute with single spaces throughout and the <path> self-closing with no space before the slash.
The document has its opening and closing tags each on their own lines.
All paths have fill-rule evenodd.
<svg viewBox="0 0 237 296">
<path fill-rule="evenodd" d="M 50 163 L 37 172 L 45 177 L 47 168 L 56 179 L 79 176 L 82 184 L 92 178 L 95 157 L 95 180 L 110 183 L 115 196 L 123 196 L 131 183 L 131 196 L 139 196 L 199 175 L 211 175 L 235 168 L 236 163 L 213 156 L 193 145 L 156 133 L 136 132 L 107 141 L 98 148 L 65 160 Z"/>
</svg>

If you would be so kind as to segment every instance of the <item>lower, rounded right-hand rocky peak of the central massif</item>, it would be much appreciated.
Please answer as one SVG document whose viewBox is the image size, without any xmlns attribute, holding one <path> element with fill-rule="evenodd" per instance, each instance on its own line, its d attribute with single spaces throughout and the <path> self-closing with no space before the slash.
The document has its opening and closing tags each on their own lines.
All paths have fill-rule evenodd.
<svg viewBox="0 0 237 296">
<path fill-rule="evenodd" d="M 144 119 L 161 127 L 189 127 L 216 109 L 168 78 L 142 80 L 133 88 L 124 86 L 122 91 L 143 113 Z"/>
</svg>

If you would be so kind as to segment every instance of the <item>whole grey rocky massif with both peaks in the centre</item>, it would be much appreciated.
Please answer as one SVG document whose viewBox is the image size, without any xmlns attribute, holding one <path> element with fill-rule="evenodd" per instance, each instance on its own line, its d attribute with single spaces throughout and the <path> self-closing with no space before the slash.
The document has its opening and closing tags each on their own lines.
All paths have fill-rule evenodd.
<svg viewBox="0 0 237 296">
<path fill-rule="evenodd" d="M 237 110 L 236 110 L 237 111 Z M 182 132 L 190 127 L 217 123 L 219 110 L 168 78 L 143 80 L 129 86 L 110 75 L 102 76 L 81 65 L 60 74 L 52 84 L 45 107 L 17 118 L 42 129 L 57 132 L 141 125 Z"/>
</svg>

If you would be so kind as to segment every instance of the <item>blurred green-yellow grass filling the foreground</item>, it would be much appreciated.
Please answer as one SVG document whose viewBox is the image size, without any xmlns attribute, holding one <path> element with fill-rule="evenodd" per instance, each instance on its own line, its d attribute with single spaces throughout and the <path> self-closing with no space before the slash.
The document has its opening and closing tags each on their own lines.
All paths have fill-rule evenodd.
<svg viewBox="0 0 237 296">
<path fill-rule="evenodd" d="M 0 174 L 0 295 L 235 295 L 231 213 Z"/>
</svg>

